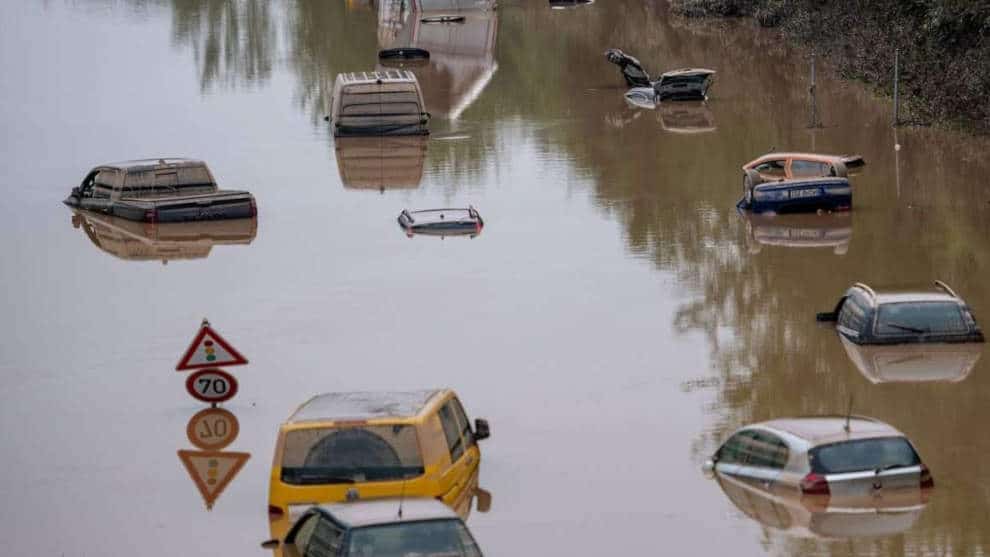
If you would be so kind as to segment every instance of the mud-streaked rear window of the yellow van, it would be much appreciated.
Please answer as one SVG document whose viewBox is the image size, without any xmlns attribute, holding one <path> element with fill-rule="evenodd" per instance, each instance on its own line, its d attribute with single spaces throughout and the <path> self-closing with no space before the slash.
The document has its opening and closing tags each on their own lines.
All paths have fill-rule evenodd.
<svg viewBox="0 0 990 557">
<path fill-rule="evenodd" d="M 285 436 L 286 483 L 388 481 L 422 474 L 423 457 L 411 425 L 307 428 Z"/>
</svg>

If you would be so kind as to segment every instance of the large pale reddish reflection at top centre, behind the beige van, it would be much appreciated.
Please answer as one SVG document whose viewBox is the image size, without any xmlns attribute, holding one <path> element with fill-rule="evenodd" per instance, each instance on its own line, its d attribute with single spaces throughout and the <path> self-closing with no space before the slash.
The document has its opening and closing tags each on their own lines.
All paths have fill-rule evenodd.
<svg viewBox="0 0 990 557">
<path fill-rule="evenodd" d="M 460 22 L 425 23 L 420 13 L 410 15 L 397 10 L 394 3 L 383 2 L 379 10 L 380 48 L 408 46 L 429 51 L 428 63 L 398 65 L 416 74 L 430 114 L 456 120 L 481 95 L 498 70 L 496 12 L 468 10 L 458 13 L 464 18 Z M 396 65 L 390 63 L 388 67 Z"/>
</svg>

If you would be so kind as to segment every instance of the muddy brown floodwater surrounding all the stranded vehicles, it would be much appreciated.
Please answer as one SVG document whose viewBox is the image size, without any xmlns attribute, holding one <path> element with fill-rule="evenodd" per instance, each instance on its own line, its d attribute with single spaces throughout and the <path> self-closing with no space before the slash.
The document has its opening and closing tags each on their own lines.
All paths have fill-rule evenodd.
<svg viewBox="0 0 990 557">
<path fill-rule="evenodd" d="M 468 521 L 488 555 L 990 550 L 990 359 L 877 381 L 813 319 L 855 280 L 934 278 L 990 318 L 986 141 L 894 130 L 821 63 L 809 128 L 805 51 L 665 2 L 414 20 L 344 0 L 0 3 L 4 554 L 265 555 L 296 405 L 441 386 L 491 422 L 492 507 Z M 417 70 L 432 137 L 335 145 L 335 75 L 413 39 L 438 53 Z M 629 108 L 607 47 L 716 69 L 711 99 Z M 739 167 L 771 148 L 863 155 L 854 211 L 739 215 Z M 61 204 L 98 163 L 163 155 L 253 191 L 257 222 L 148 230 Z M 468 203 L 475 238 L 395 224 Z M 209 510 L 177 454 L 203 404 L 173 371 L 203 317 L 251 361 L 224 405 L 224 450 L 250 457 Z M 701 473 L 733 428 L 850 397 L 932 469 L 916 519 L 756 520 Z"/>
</svg>

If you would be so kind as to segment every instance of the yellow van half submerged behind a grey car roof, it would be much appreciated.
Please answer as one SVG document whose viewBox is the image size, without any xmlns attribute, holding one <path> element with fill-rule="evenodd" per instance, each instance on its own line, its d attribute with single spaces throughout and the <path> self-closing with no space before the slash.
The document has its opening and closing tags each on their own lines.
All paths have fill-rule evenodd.
<svg viewBox="0 0 990 557">
<path fill-rule="evenodd" d="M 485 420 L 471 427 L 449 389 L 315 396 L 279 428 L 272 537 L 310 506 L 338 501 L 434 497 L 466 516 L 478 487 L 477 442 L 489 435 Z"/>
</svg>

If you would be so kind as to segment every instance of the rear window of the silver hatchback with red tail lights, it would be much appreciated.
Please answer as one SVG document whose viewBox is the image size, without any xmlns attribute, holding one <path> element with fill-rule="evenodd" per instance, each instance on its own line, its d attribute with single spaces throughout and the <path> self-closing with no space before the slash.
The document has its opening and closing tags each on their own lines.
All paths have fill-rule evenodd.
<svg viewBox="0 0 990 557">
<path fill-rule="evenodd" d="M 864 470 L 889 470 L 921 463 L 914 447 L 903 437 L 878 437 L 816 447 L 810 452 L 812 471 L 844 474 Z"/>
</svg>

